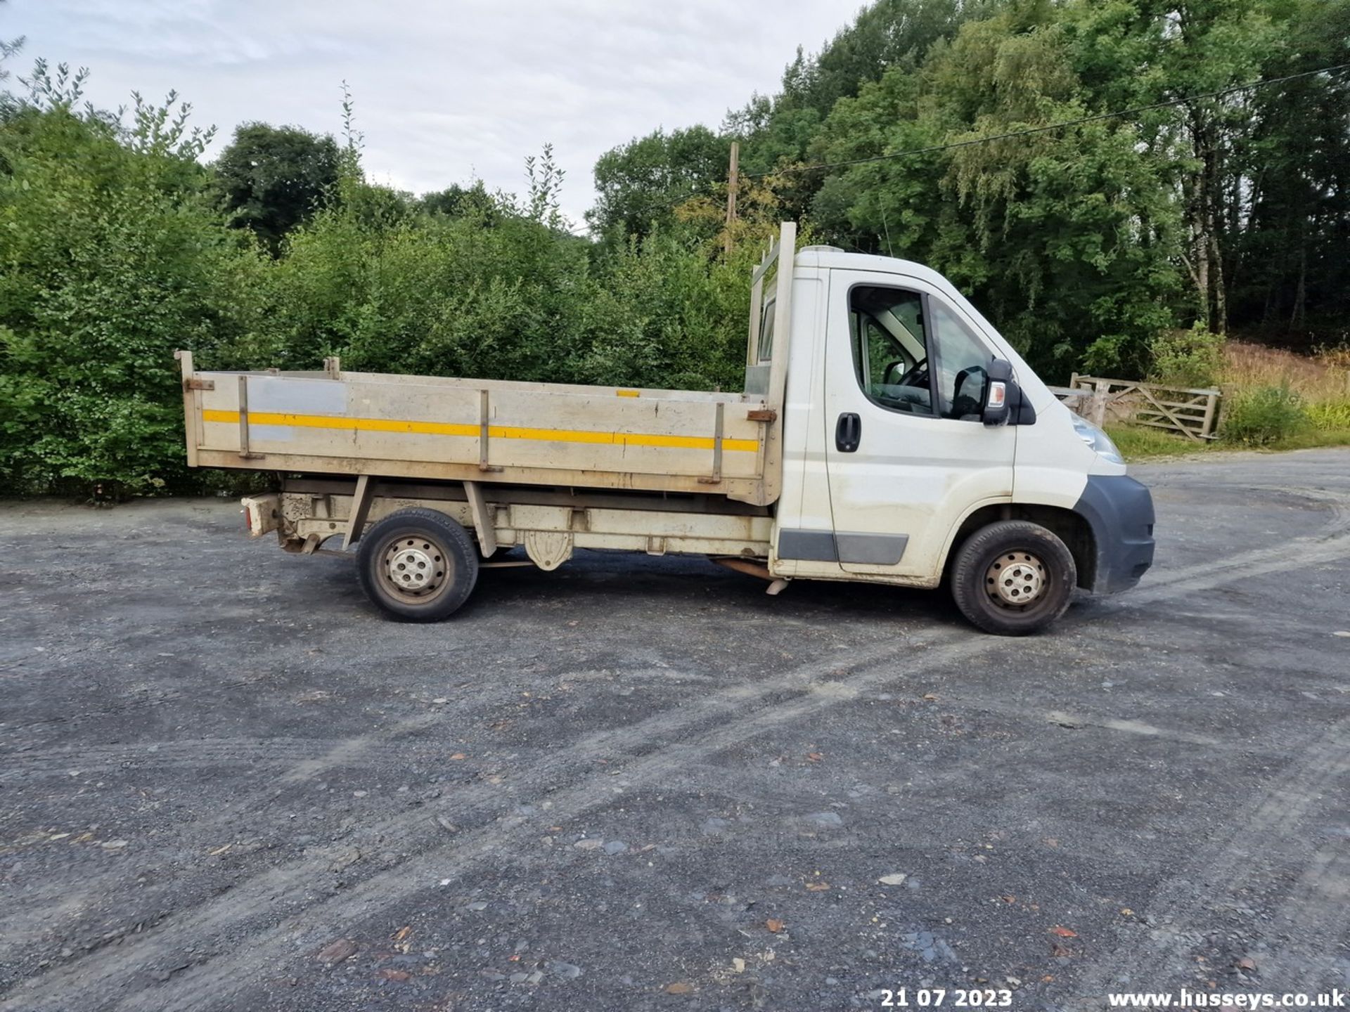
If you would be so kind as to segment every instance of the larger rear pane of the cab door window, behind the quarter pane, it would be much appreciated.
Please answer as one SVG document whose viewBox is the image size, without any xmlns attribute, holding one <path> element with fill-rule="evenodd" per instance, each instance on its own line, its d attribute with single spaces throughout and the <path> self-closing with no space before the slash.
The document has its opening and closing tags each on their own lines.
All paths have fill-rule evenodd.
<svg viewBox="0 0 1350 1012">
<path fill-rule="evenodd" d="M 859 285 L 849 293 L 853 367 L 872 403 L 933 414 L 923 300 L 917 291 Z"/>
</svg>

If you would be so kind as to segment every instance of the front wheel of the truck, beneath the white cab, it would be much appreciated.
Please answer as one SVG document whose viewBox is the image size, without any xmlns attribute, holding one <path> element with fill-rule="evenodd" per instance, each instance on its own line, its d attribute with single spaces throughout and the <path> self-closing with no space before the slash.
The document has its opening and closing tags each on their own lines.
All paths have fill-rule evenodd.
<svg viewBox="0 0 1350 1012">
<path fill-rule="evenodd" d="M 957 549 L 952 596 L 987 633 L 1026 636 L 1064 614 L 1079 580 L 1073 555 L 1040 524 L 1006 519 L 980 528 Z"/>
</svg>

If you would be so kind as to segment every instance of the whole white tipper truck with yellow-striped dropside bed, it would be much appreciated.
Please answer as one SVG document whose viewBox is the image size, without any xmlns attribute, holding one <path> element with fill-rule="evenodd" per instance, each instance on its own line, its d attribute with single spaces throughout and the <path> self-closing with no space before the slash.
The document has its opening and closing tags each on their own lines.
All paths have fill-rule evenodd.
<svg viewBox="0 0 1350 1012">
<path fill-rule="evenodd" d="M 770 582 L 950 586 L 991 633 L 1133 587 L 1153 501 L 941 275 L 795 250 L 752 277 L 742 393 L 182 370 L 188 461 L 277 472 L 252 536 L 356 545 L 389 615 L 446 618 L 491 565 L 695 553 Z M 336 538 L 340 549 L 325 548 Z M 502 561 L 522 548 L 528 559 Z"/>
</svg>

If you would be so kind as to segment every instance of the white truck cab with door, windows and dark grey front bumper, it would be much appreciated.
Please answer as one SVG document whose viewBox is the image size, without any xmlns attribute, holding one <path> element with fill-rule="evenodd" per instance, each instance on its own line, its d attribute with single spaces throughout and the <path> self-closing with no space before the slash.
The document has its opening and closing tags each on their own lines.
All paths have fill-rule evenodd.
<svg viewBox="0 0 1350 1012">
<path fill-rule="evenodd" d="M 988 559 L 975 575 L 983 599 L 965 587 L 963 611 L 1018 631 L 1040 627 L 1038 602 L 1060 596 L 1056 579 L 1115 592 L 1149 568 L 1148 490 L 944 277 L 807 247 L 790 300 L 775 575 L 969 580 L 953 573 L 956 553 L 1003 525 L 1013 537 L 986 533 Z M 778 354 L 776 310 L 771 297 L 752 325 L 747 389 L 765 382 Z M 1052 572 L 1058 553 L 1033 528 L 1062 544 L 1072 576 Z M 963 591 L 953 583 L 953 592 Z"/>
</svg>

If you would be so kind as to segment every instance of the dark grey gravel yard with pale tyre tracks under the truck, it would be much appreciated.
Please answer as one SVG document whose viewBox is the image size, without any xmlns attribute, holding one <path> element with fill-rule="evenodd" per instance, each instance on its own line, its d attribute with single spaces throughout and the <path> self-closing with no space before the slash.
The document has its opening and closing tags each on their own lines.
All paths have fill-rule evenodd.
<svg viewBox="0 0 1350 1012">
<path fill-rule="evenodd" d="M 1345 989 L 1350 453 L 1137 472 L 1030 640 L 601 553 L 396 625 L 230 502 L 3 505 L 0 1009 Z"/>
</svg>

